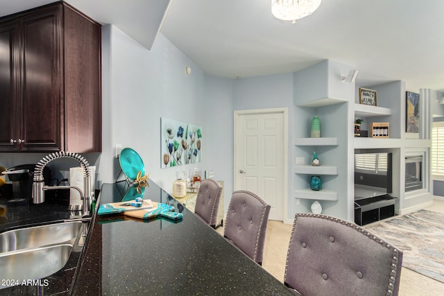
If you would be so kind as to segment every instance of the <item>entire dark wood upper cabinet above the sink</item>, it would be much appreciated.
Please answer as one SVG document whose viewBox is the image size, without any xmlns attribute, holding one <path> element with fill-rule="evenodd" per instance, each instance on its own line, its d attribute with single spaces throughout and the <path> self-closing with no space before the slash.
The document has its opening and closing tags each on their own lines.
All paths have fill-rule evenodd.
<svg viewBox="0 0 444 296">
<path fill-rule="evenodd" d="M 1 151 L 101 152 L 100 24 L 42 6 L 0 19 L 0 52 Z"/>
</svg>

